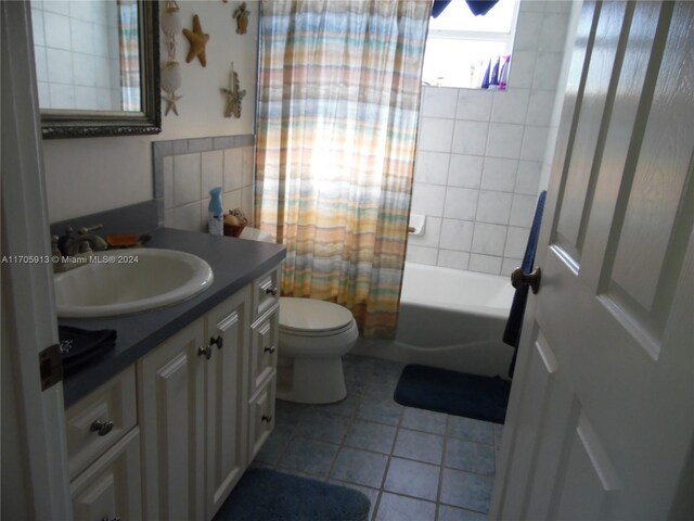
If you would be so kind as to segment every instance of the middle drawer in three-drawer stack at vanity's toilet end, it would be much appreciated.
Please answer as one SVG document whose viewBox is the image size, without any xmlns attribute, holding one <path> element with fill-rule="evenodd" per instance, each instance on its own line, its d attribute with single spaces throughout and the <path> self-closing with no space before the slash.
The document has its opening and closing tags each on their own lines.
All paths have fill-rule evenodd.
<svg viewBox="0 0 694 521">
<path fill-rule="evenodd" d="M 252 396 L 278 365 L 280 304 L 259 318 L 250 327 L 250 379 L 248 396 Z"/>
</svg>

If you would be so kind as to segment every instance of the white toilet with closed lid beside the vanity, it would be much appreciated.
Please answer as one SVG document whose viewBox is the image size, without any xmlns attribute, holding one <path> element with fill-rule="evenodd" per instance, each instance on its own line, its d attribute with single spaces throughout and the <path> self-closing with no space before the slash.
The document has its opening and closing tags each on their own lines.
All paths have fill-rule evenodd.
<svg viewBox="0 0 694 521">
<path fill-rule="evenodd" d="M 278 398 L 301 404 L 344 399 L 342 357 L 358 336 L 349 309 L 314 298 L 281 297 Z"/>
</svg>

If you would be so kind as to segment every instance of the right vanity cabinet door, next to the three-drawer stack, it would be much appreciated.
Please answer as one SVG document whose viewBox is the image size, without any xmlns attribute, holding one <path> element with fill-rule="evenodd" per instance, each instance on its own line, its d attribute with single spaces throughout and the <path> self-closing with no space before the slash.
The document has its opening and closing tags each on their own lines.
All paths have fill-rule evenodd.
<svg viewBox="0 0 694 521">
<path fill-rule="evenodd" d="M 211 355 L 205 364 L 207 401 L 206 519 L 211 519 L 241 479 L 246 463 L 247 356 L 250 288 L 235 293 L 207 315 Z"/>
</svg>

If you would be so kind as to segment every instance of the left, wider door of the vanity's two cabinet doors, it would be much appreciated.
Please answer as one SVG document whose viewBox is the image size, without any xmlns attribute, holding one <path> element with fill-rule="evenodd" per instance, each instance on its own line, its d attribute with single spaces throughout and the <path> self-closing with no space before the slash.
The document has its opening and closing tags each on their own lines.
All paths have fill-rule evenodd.
<svg viewBox="0 0 694 521">
<path fill-rule="evenodd" d="M 145 519 L 203 519 L 204 320 L 138 363 Z"/>
</svg>

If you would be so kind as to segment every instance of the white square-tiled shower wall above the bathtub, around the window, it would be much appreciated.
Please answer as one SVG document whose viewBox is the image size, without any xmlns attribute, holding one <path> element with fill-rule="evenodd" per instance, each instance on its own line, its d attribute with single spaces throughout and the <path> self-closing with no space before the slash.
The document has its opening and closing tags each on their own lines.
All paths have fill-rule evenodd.
<svg viewBox="0 0 694 521">
<path fill-rule="evenodd" d="M 522 1 L 509 90 L 422 91 L 409 262 L 489 274 L 520 265 L 545 150 L 570 2 Z"/>
</svg>

